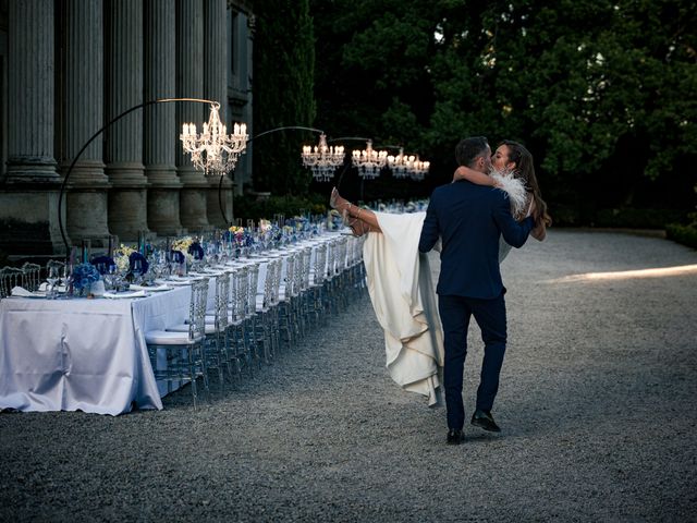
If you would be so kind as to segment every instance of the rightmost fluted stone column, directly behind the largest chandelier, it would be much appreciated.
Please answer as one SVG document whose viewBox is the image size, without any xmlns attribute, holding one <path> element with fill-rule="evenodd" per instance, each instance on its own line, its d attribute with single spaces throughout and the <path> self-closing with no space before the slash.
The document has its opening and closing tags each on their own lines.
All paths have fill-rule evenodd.
<svg viewBox="0 0 697 523">
<path fill-rule="evenodd" d="M 220 121 L 232 129 L 228 120 L 228 4 L 225 0 L 208 0 L 204 17 L 204 97 L 220 102 Z M 230 205 L 232 183 L 224 175 L 208 178 L 207 191 L 208 222 L 218 228 L 228 228 L 232 220 Z M 222 211 L 220 209 L 222 202 Z M 227 217 L 223 217 L 223 212 Z"/>
</svg>

